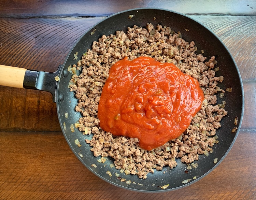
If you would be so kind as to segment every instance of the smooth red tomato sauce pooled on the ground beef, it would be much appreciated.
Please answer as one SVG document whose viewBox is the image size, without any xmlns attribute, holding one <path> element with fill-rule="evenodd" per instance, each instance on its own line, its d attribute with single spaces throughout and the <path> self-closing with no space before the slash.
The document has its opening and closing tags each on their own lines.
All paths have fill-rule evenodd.
<svg viewBox="0 0 256 200">
<path fill-rule="evenodd" d="M 204 99 L 198 81 L 172 63 L 124 58 L 109 71 L 98 106 L 100 127 L 113 135 L 138 138 L 152 150 L 179 137 Z"/>
</svg>

